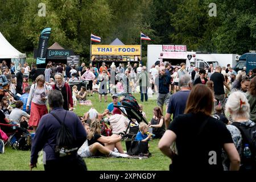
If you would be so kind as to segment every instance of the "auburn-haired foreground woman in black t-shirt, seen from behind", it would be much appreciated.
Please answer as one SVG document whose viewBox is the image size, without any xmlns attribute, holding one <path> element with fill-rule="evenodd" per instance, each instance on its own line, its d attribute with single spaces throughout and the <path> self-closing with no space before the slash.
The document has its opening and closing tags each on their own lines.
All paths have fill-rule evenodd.
<svg viewBox="0 0 256 182">
<path fill-rule="evenodd" d="M 160 139 L 158 147 L 172 159 L 170 169 L 223 171 L 222 148 L 230 159 L 230 170 L 240 168 L 240 156 L 224 123 L 210 117 L 213 93 L 198 84 L 189 94 L 185 114 L 178 115 Z M 171 150 L 176 141 L 177 155 Z"/>
</svg>

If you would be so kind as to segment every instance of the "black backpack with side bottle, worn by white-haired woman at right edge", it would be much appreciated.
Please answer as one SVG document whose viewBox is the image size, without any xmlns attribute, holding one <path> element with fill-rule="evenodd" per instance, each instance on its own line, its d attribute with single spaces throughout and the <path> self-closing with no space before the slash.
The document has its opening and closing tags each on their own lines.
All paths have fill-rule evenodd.
<svg viewBox="0 0 256 182">
<path fill-rule="evenodd" d="M 246 126 L 240 122 L 233 122 L 232 125 L 236 126 L 242 135 L 242 148 L 245 147 L 245 144 L 249 144 L 251 151 L 251 158 L 246 159 L 242 154 L 241 158 L 241 169 L 256 169 L 256 125 Z"/>
</svg>

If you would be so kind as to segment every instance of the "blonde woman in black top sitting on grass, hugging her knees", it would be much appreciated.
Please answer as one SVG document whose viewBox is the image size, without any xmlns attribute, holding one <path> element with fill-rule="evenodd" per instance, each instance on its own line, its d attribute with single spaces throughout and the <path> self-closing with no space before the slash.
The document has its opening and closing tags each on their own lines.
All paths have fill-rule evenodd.
<svg viewBox="0 0 256 182">
<path fill-rule="evenodd" d="M 105 137 L 101 135 L 100 129 L 100 121 L 98 119 L 93 119 L 93 121 L 90 123 L 90 131 L 87 135 L 89 147 L 97 142 L 110 151 L 114 151 L 114 148 L 117 148 L 118 152 L 122 154 L 122 157 L 129 156 L 123 152 L 123 147 L 121 144 L 122 137 L 120 135 L 112 135 L 110 137 Z M 102 156 L 102 153 L 98 150 L 90 151 L 93 153 L 94 156 Z M 109 155 L 111 155 L 111 153 Z"/>
</svg>

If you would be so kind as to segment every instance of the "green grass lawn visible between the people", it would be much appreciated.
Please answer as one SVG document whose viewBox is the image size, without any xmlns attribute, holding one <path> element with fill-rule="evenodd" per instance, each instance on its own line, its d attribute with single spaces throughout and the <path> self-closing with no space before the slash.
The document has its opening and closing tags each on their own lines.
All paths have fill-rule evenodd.
<svg viewBox="0 0 256 182">
<path fill-rule="evenodd" d="M 134 94 L 140 103 L 140 94 Z M 93 106 L 97 111 L 102 112 L 106 109 L 108 104 L 112 101 L 112 98 L 108 96 L 108 102 L 98 101 L 98 94 L 94 94 L 93 97 L 89 97 L 93 103 Z M 156 106 L 156 100 L 148 100 L 143 102 L 143 110 L 147 115 L 147 120 L 152 118 L 152 110 Z M 86 111 L 90 109 L 90 106 L 76 106 L 74 112 L 77 115 L 83 115 Z M 152 156 L 148 159 L 124 159 L 124 158 L 84 158 L 88 170 L 94 171 L 141 171 L 141 170 L 168 170 L 170 164 L 170 159 L 160 152 L 158 149 L 159 140 L 150 141 L 150 152 Z M 125 142 L 122 142 L 124 150 Z M 10 170 L 10 171 L 27 171 L 29 170 L 30 162 L 30 151 L 18 151 L 12 148 L 6 147 L 5 154 L 0 154 L 0 171 Z M 43 164 L 38 161 L 38 168 L 33 170 L 43 170 Z"/>
</svg>

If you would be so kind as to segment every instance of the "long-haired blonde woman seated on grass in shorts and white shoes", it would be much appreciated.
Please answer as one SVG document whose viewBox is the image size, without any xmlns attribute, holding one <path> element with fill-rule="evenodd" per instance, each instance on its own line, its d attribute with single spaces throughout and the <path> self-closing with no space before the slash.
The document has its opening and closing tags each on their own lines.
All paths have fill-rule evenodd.
<svg viewBox="0 0 256 182">
<path fill-rule="evenodd" d="M 90 123 L 90 131 L 88 132 L 87 139 L 89 150 L 92 156 L 117 155 L 123 158 L 129 157 L 129 155 L 123 152 L 123 147 L 121 143 L 122 137 L 120 135 L 112 135 L 110 137 L 105 137 L 101 135 L 101 126 L 98 119 L 93 119 L 93 121 Z M 98 150 L 99 148 L 101 149 Z M 114 148 L 117 148 L 120 154 L 113 153 Z"/>
</svg>

